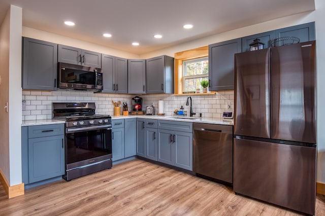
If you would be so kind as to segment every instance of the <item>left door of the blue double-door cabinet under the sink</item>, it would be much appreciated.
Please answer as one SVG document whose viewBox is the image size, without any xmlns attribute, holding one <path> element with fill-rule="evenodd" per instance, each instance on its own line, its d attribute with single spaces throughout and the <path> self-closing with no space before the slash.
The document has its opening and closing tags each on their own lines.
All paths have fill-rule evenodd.
<svg viewBox="0 0 325 216">
<path fill-rule="evenodd" d="M 158 129 L 157 161 L 174 165 L 174 131 Z"/>
</svg>

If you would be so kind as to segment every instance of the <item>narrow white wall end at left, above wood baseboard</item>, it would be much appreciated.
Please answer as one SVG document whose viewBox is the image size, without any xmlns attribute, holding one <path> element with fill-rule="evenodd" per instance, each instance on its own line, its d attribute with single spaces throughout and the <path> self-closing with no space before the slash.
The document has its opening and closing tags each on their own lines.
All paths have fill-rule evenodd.
<svg viewBox="0 0 325 216">
<path fill-rule="evenodd" d="M 21 26 L 22 8 L 11 6 L 9 51 L 10 186 L 21 184 Z"/>
</svg>

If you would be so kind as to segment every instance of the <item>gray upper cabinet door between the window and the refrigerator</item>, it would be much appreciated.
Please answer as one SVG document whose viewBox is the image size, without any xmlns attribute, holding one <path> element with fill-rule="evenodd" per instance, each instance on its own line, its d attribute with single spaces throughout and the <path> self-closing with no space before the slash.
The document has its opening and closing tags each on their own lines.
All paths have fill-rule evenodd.
<svg viewBox="0 0 325 216">
<path fill-rule="evenodd" d="M 240 39 L 209 45 L 209 90 L 234 90 L 234 55 L 240 53 Z"/>
</svg>

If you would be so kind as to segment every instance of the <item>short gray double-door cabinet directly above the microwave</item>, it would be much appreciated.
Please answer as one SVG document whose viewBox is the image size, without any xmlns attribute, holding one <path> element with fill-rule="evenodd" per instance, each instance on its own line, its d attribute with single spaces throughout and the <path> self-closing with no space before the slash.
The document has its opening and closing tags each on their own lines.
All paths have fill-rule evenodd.
<svg viewBox="0 0 325 216">
<path fill-rule="evenodd" d="M 58 45 L 58 61 L 102 68 L 102 54 L 75 47 Z"/>
</svg>

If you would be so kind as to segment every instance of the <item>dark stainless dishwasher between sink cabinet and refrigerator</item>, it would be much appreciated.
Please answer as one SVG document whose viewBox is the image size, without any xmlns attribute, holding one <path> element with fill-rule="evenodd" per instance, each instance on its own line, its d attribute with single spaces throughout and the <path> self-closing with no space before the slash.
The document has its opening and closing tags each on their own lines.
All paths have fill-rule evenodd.
<svg viewBox="0 0 325 216">
<path fill-rule="evenodd" d="M 193 124 L 193 171 L 233 184 L 233 126 Z"/>
</svg>

